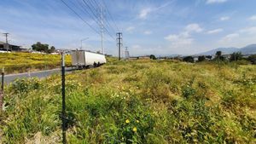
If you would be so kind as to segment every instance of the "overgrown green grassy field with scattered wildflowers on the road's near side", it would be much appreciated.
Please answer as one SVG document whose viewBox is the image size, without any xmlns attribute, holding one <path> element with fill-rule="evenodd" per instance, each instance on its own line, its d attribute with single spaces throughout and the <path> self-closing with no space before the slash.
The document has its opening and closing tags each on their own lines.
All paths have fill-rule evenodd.
<svg viewBox="0 0 256 144">
<path fill-rule="evenodd" d="M 255 143 L 256 66 L 115 61 L 67 75 L 68 143 Z M 61 142 L 61 77 L 6 88 L 3 143 Z"/>
</svg>

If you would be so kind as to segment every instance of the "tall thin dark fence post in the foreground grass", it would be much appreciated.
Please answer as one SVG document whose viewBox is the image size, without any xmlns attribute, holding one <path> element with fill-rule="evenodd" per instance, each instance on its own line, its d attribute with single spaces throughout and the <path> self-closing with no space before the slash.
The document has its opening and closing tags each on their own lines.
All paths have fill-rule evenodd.
<svg viewBox="0 0 256 144">
<path fill-rule="evenodd" d="M 63 144 L 67 143 L 66 139 L 66 129 L 67 129 L 67 119 L 66 119 L 66 101 L 65 101 L 65 53 L 61 53 L 61 82 L 62 82 L 62 112 L 61 112 L 61 119 L 62 119 L 62 142 Z"/>
</svg>

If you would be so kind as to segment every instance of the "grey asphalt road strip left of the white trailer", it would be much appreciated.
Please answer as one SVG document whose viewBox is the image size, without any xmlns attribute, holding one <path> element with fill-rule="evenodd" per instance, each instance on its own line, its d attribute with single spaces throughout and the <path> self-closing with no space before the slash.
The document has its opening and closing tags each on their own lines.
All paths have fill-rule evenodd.
<svg viewBox="0 0 256 144">
<path fill-rule="evenodd" d="M 73 69 L 71 67 L 66 67 L 66 72 L 72 72 Z M 45 71 L 38 71 L 38 72 L 25 72 L 25 73 L 18 73 L 18 74 L 9 74 L 5 75 L 3 80 L 5 84 L 9 84 L 13 81 L 15 81 L 16 78 L 32 78 L 32 77 L 37 77 L 37 78 L 46 78 L 49 77 L 52 74 L 61 74 L 61 69 L 52 69 L 52 70 L 45 70 Z M 2 80 L 1 80 L 2 81 Z"/>
</svg>

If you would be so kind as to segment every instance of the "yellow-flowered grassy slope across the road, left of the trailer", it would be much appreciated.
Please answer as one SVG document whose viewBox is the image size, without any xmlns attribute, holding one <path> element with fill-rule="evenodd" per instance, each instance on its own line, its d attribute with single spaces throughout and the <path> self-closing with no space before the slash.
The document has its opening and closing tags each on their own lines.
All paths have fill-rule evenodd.
<svg viewBox="0 0 256 144">
<path fill-rule="evenodd" d="M 6 73 L 28 72 L 60 67 L 60 55 L 31 53 L 0 53 L 0 68 Z M 71 66 L 71 57 L 67 55 L 67 66 Z"/>
</svg>

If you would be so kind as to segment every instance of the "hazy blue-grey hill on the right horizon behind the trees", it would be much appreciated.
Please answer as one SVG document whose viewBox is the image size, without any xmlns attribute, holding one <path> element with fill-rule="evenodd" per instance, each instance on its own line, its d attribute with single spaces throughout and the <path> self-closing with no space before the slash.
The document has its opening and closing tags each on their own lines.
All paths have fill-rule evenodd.
<svg viewBox="0 0 256 144">
<path fill-rule="evenodd" d="M 256 54 L 256 44 L 247 45 L 241 49 L 239 48 L 218 48 L 212 49 L 207 52 L 200 53 L 198 55 L 215 55 L 217 51 L 222 51 L 223 54 L 232 54 L 234 52 L 241 52 L 241 54 Z"/>
</svg>

